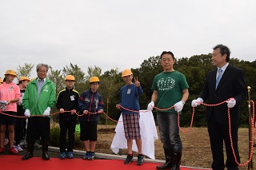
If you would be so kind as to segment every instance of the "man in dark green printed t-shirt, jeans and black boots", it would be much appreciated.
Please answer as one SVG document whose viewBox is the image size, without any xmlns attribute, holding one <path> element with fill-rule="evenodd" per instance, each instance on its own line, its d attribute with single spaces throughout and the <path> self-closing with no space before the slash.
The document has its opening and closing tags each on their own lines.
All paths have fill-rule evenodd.
<svg viewBox="0 0 256 170">
<path fill-rule="evenodd" d="M 182 159 L 182 140 L 179 136 L 178 113 L 189 97 L 189 85 L 186 77 L 174 70 L 174 53 L 163 51 L 161 56 L 163 72 L 154 77 L 152 89 L 154 90 L 148 110 L 154 108 L 157 103 L 159 109 L 168 109 L 174 105 L 174 109 L 158 111 L 157 120 L 160 139 L 163 144 L 166 162 L 157 169 L 179 170 Z"/>
</svg>

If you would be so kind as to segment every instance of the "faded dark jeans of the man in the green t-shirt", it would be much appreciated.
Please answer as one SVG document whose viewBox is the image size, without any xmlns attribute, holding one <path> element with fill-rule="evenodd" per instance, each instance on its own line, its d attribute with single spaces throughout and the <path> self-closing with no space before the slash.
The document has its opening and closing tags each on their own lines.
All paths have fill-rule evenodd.
<svg viewBox="0 0 256 170">
<path fill-rule="evenodd" d="M 177 113 L 158 112 L 157 120 L 163 148 L 171 149 L 173 152 L 182 152 Z"/>
</svg>

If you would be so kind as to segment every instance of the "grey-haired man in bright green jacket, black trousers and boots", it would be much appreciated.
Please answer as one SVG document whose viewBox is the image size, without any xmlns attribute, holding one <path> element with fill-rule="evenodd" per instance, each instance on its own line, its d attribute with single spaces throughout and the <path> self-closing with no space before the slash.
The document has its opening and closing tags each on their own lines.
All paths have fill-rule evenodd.
<svg viewBox="0 0 256 170">
<path fill-rule="evenodd" d="M 22 105 L 24 115 L 28 117 L 26 131 L 27 153 L 22 160 L 33 157 L 34 140 L 39 135 L 42 139 L 42 159 L 50 160 L 47 154 L 50 140 L 50 109 L 56 104 L 56 88 L 46 76 L 49 65 L 38 64 L 38 77 L 27 85 Z"/>
</svg>

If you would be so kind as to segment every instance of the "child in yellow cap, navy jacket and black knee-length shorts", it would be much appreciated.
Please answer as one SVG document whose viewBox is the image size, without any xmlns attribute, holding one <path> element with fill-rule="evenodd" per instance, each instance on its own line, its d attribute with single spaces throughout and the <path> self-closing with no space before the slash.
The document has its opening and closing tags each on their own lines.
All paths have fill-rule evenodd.
<svg viewBox="0 0 256 170">
<path fill-rule="evenodd" d="M 90 78 L 90 89 L 81 94 L 78 100 L 80 121 L 80 140 L 83 141 L 86 154 L 83 156 L 84 160 L 94 160 L 95 145 L 97 141 L 97 125 L 98 115 L 103 113 L 104 102 L 102 96 L 98 93 L 99 79 L 98 77 Z"/>
</svg>

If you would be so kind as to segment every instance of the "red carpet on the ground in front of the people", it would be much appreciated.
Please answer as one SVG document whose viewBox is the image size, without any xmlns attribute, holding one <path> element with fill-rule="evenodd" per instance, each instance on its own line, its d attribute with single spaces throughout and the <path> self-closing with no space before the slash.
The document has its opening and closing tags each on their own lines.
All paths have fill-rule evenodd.
<svg viewBox="0 0 256 170">
<path fill-rule="evenodd" d="M 123 160 L 82 160 L 78 158 L 60 160 L 58 158 L 50 158 L 50 160 L 42 160 L 41 157 L 33 157 L 30 160 L 22 160 L 22 156 L 0 155 L 1 169 L 21 169 L 21 170 L 79 170 L 79 169 L 113 169 L 113 170 L 143 170 L 156 169 L 158 164 L 144 163 L 138 166 L 136 162 L 123 164 Z M 182 170 L 193 170 L 198 168 L 182 167 Z"/>
</svg>

